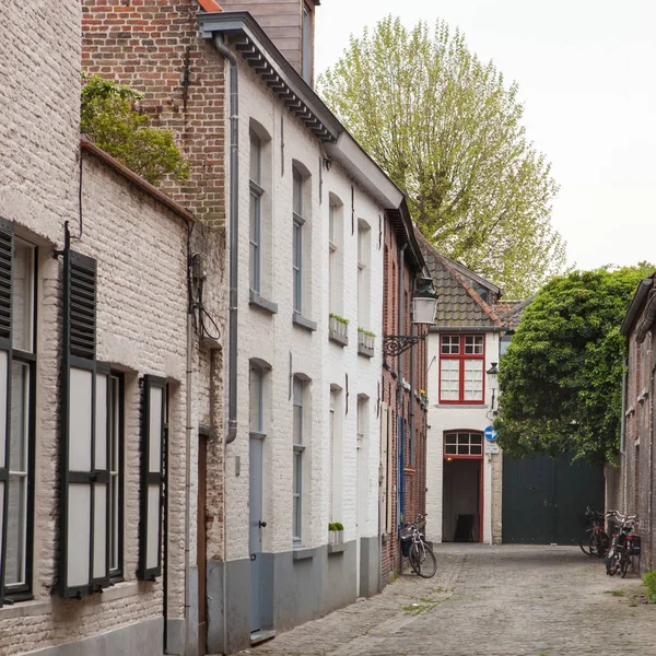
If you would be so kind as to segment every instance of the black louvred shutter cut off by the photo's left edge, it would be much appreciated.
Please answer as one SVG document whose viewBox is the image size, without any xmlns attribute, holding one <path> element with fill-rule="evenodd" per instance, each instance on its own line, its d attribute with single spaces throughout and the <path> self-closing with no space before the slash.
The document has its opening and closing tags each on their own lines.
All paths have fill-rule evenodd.
<svg viewBox="0 0 656 656">
<path fill-rule="evenodd" d="M 4 599 L 7 515 L 9 512 L 9 438 L 11 431 L 11 304 L 13 223 L 0 219 L 0 608 Z"/>
</svg>

